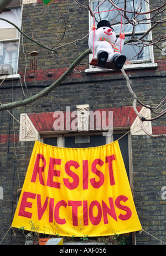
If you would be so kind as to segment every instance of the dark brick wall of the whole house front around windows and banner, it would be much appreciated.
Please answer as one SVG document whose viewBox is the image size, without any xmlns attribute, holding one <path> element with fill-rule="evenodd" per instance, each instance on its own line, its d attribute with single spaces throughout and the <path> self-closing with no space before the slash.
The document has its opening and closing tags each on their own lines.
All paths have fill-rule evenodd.
<svg viewBox="0 0 166 256">
<path fill-rule="evenodd" d="M 80 1 L 86 4 L 86 1 Z M 153 2 L 153 1 L 152 1 Z M 24 33 L 49 45 L 56 44 L 63 36 L 64 21 L 58 11 L 61 11 L 67 24 L 67 31 L 63 43 L 68 43 L 88 33 L 88 13 L 75 1 L 55 1 L 49 6 L 42 2 L 37 4 L 25 4 L 23 8 Z M 40 12 L 39 12 L 40 10 Z M 41 15 L 42 13 L 42 15 Z M 77 17 L 77 14 L 79 17 Z M 80 29 L 81 24 L 81 29 Z M 164 24 L 161 25 L 165 29 Z M 83 32 L 82 32 L 83 31 Z M 154 31 L 155 33 L 155 31 Z M 62 44 L 62 43 L 61 43 Z M 30 52 L 38 50 L 38 71 L 35 77 L 29 77 Z M 61 48 L 61 54 L 72 62 L 80 53 L 87 49 L 87 38 L 80 42 Z M 26 83 L 28 91 L 23 83 L 25 71 L 25 57 L 22 43 L 20 43 L 19 73 L 22 75 L 22 85 L 26 97 L 41 91 L 68 68 L 69 64 L 61 58 L 60 54 L 52 54 L 45 49 L 36 47 L 34 43 L 24 38 L 24 51 L 27 55 Z M 147 104 L 158 104 L 164 98 L 165 92 L 165 57 L 158 55 L 158 49 L 154 48 L 156 69 L 140 69 L 127 71 L 131 78 L 132 88 L 141 101 Z M 87 57 L 76 70 L 58 88 L 47 97 L 35 101 L 33 104 L 17 107 L 10 110 L 19 121 L 20 113 L 65 111 L 66 106 L 71 111 L 78 104 L 89 104 L 90 110 L 132 106 L 132 97 L 129 94 L 126 81 L 120 72 L 108 72 L 98 74 L 85 74 L 88 68 Z M 49 76 L 48 72 L 52 75 Z M 1 85 L 1 103 L 24 99 L 22 86 L 19 80 L 4 81 Z M 7 111 L 0 112 L 0 186 L 3 187 L 3 200 L 0 200 L 0 239 L 3 239 L 11 226 L 17 201 L 19 188 L 22 187 L 26 175 L 30 155 L 34 142 L 19 142 L 19 123 Z M 165 118 L 162 117 L 153 124 L 154 131 L 165 129 Z M 142 228 L 163 241 L 165 233 L 165 205 L 166 201 L 161 197 L 161 189 L 165 185 L 165 139 L 153 139 L 149 136 L 131 136 L 132 163 L 133 163 L 133 187 L 134 202 L 138 212 Z M 9 229 L 2 244 L 24 244 L 24 235 L 18 230 Z M 0 240 L 1 242 L 1 240 Z M 137 244 L 160 244 L 145 232 L 136 234 Z"/>
</svg>

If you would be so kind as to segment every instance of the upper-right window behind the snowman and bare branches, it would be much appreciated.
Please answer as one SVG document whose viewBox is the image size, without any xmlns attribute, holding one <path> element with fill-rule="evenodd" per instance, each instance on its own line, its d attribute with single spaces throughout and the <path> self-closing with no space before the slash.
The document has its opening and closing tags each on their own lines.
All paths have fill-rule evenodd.
<svg viewBox="0 0 166 256">
<path fill-rule="evenodd" d="M 95 17 L 97 22 L 99 22 L 102 19 L 107 19 L 107 21 L 110 21 L 110 23 L 115 24 L 113 25 L 113 29 L 116 32 L 117 38 L 118 35 L 121 31 L 121 12 L 116 10 L 115 7 L 112 6 L 112 4 L 108 1 L 104 2 L 100 7 L 99 10 L 96 10 L 96 7 L 98 6 L 98 2 L 102 2 L 102 1 L 98 1 L 98 0 L 91 0 L 91 10 L 92 12 L 96 12 Z M 138 4 L 139 4 L 139 0 L 134 1 L 134 8 L 137 9 Z M 133 1 L 132 0 L 127 0 L 126 2 L 127 4 L 127 10 L 128 11 L 133 11 Z M 116 1 L 116 5 L 119 8 L 124 8 L 124 1 L 122 0 L 118 0 Z M 149 8 L 149 4 L 146 1 L 142 1 L 142 11 L 141 12 L 146 12 L 148 11 Z M 109 11 L 114 9 L 114 11 Z M 96 10 L 96 11 L 95 11 Z M 97 13 L 99 12 L 99 13 Z M 149 14 L 147 14 L 149 15 Z M 129 17 L 129 19 L 133 18 L 133 13 L 127 13 L 127 16 Z M 139 15 L 139 19 L 143 19 L 146 17 L 146 14 L 144 15 Z M 147 17 L 149 18 L 149 16 Z M 96 27 L 97 27 L 97 22 L 96 23 Z M 92 27 L 92 24 L 94 23 L 94 19 L 90 16 L 90 30 Z M 118 24 L 117 24 L 118 23 Z M 141 35 L 143 35 L 149 28 L 149 24 L 146 24 L 146 22 L 142 22 L 141 24 L 138 24 L 135 27 L 135 34 L 134 37 L 141 37 Z M 131 35 L 132 35 L 132 30 L 133 30 L 133 26 L 131 24 L 126 24 L 124 27 L 124 32 L 125 32 L 125 41 L 131 39 Z M 123 18 L 122 18 L 122 33 L 123 33 Z M 147 35 L 146 39 L 151 39 L 151 34 Z M 127 60 L 129 60 L 131 63 L 133 64 L 138 64 L 138 63 L 153 63 L 153 47 L 149 46 L 149 47 L 142 47 L 142 44 L 137 44 L 137 45 L 127 45 L 125 44 L 123 47 L 123 50 L 121 52 L 122 54 L 126 55 Z M 91 56 L 92 58 L 92 56 Z"/>
</svg>

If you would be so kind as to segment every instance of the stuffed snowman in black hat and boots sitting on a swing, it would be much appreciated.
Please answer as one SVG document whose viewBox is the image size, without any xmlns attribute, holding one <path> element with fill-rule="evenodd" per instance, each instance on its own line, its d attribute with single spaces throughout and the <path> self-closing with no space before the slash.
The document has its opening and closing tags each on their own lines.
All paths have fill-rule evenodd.
<svg viewBox="0 0 166 256">
<path fill-rule="evenodd" d="M 122 50 L 124 42 L 125 33 L 120 33 L 120 37 L 116 41 L 116 35 L 110 22 L 103 20 L 98 22 L 97 28 L 95 28 L 95 24 L 92 26 L 89 47 L 92 51 L 94 50 L 94 58 L 98 59 L 97 65 L 103 66 L 106 62 L 113 62 L 116 69 L 122 69 L 126 62 L 126 56 L 121 55 L 120 49 Z"/>
</svg>

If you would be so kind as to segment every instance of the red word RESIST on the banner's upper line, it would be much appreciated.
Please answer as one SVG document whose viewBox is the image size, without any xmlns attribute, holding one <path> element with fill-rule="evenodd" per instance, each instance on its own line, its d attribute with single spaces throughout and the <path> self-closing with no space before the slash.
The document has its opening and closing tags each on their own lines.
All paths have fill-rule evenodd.
<svg viewBox="0 0 166 256">
<path fill-rule="evenodd" d="M 108 172 L 110 176 L 110 185 L 115 185 L 115 179 L 113 176 L 113 168 L 112 168 L 112 161 L 115 160 L 115 156 L 106 156 L 106 163 L 108 163 Z M 90 179 L 90 183 L 92 187 L 94 188 L 100 188 L 104 181 L 105 181 L 105 175 L 103 174 L 100 169 L 97 169 L 97 165 L 103 166 L 103 161 L 99 158 L 95 159 L 92 162 L 91 165 L 91 171 L 92 173 L 95 173 L 95 175 L 98 177 L 94 177 Z M 54 177 L 60 177 L 60 170 L 56 170 L 56 165 L 61 165 L 61 159 L 56 159 L 50 157 L 49 160 L 49 168 L 48 168 L 48 177 L 46 181 L 46 186 L 53 187 L 53 188 L 60 188 L 61 183 L 54 181 Z M 43 172 L 45 170 L 46 166 L 46 160 L 42 154 L 37 154 L 36 160 L 35 160 L 35 165 L 33 169 L 33 174 L 32 174 L 32 179 L 31 182 L 36 182 L 37 176 L 39 176 L 39 182 L 41 185 L 45 186 L 45 180 L 43 177 Z M 70 178 L 64 178 L 64 185 L 69 189 L 69 190 L 74 190 L 77 186 L 79 186 L 79 175 L 77 175 L 72 168 L 79 168 L 80 165 L 78 162 L 74 160 L 70 160 L 65 163 L 65 166 L 63 167 L 65 169 L 65 172 L 67 175 L 69 175 L 72 178 L 72 182 L 70 181 Z M 89 165 L 88 165 L 88 160 L 82 160 L 82 188 L 83 190 L 87 190 L 89 188 Z"/>
</svg>

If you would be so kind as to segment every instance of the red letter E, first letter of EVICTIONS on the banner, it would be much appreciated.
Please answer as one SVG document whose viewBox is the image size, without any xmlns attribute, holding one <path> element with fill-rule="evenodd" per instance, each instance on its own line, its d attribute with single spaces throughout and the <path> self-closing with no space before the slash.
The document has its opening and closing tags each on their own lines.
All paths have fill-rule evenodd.
<svg viewBox="0 0 166 256">
<path fill-rule="evenodd" d="M 32 198 L 35 199 L 36 194 L 34 193 L 30 193 L 30 192 L 24 192 L 23 193 L 23 197 L 22 197 L 22 202 L 20 203 L 20 208 L 19 208 L 19 216 L 23 216 L 26 218 L 31 218 L 32 217 L 32 213 L 31 212 L 25 212 L 25 208 L 32 208 L 32 203 L 31 202 L 27 202 L 27 198 Z"/>
</svg>

